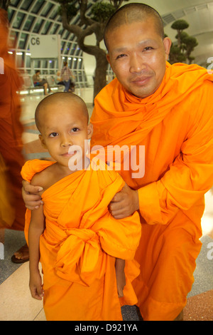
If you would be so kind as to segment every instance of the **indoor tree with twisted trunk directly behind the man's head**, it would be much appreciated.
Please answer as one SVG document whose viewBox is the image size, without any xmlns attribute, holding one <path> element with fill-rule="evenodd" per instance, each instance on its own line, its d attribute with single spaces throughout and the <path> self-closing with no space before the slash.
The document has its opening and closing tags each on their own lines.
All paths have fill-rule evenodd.
<svg viewBox="0 0 213 335">
<path fill-rule="evenodd" d="M 97 3 L 92 5 L 92 15 L 87 16 L 88 0 L 58 0 L 63 28 L 74 33 L 81 50 L 93 55 L 96 59 L 94 97 L 97 96 L 97 93 L 99 93 L 99 91 L 106 85 L 108 62 L 106 50 L 100 45 L 104 38 L 104 27 L 111 14 L 113 14 L 124 1 L 129 0 L 110 0 L 108 2 L 97 1 Z M 77 16 L 77 14 L 80 15 L 80 20 L 77 24 L 72 24 L 71 19 Z M 93 33 L 96 43 L 95 45 L 87 45 L 84 40 L 87 36 L 92 35 Z"/>
</svg>

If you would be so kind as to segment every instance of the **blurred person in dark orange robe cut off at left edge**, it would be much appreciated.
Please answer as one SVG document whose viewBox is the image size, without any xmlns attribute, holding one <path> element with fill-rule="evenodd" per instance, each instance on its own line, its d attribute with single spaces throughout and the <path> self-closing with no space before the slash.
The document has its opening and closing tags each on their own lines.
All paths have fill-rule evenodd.
<svg viewBox="0 0 213 335">
<path fill-rule="evenodd" d="M 9 22 L 7 12 L 0 9 L 0 153 L 6 164 L 9 177 L 9 191 L 13 195 L 15 220 L 10 222 L 12 230 L 24 229 L 26 207 L 21 196 L 21 168 L 23 158 L 23 143 L 21 136 L 23 126 L 20 122 L 21 102 L 17 91 L 21 88 L 21 78 L 18 76 L 13 56 L 8 53 Z M 9 228 L 7 226 L 6 228 Z M 28 260 L 28 248 L 23 248 Z M 16 257 L 13 255 L 13 260 Z"/>
</svg>

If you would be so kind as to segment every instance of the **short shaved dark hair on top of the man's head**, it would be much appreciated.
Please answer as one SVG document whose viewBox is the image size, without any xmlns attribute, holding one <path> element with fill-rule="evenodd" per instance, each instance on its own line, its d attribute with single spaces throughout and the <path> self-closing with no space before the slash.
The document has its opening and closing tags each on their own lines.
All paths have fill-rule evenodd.
<svg viewBox="0 0 213 335">
<path fill-rule="evenodd" d="M 104 43 L 109 50 L 109 42 L 107 34 L 114 29 L 119 28 L 124 24 L 133 24 L 134 22 L 146 21 L 148 18 L 153 18 L 157 33 L 164 38 L 163 21 L 158 11 L 146 4 L 126 4 L 119 8 L 109 19 L 104 30 Z"/>
</svg>

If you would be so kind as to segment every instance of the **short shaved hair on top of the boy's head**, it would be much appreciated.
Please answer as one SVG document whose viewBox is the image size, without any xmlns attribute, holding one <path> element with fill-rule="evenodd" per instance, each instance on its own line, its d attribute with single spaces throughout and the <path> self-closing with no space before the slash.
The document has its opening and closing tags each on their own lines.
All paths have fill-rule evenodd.
<svg viewBox="0 0 213 335">
<path fill-rule="evenodd" d="M 38 106 L 35 110 L 35 124 L 40 130 L 41 124 L 40 124 L 40 114 L 45 111 L 45 108 L 48 105 L 55 105 L 57 103 L 70 103 L 70 108 L 72 108 L 72 103 L 77 103 L 82 108 L 80 109 L 80 113 L 83 113 L 84 117 L 87 119 L 87 123 L 89 120 L 87 105 L 84 103 L 84 100 L 80 98 L 80 96 L 77 96 L 74 93 L 67 93 L 67 92 L 59 92 L 59 93 L 53 93 L 50 96 L 47 96 L 43 100 L 38 103 Z"/>
</svg>

